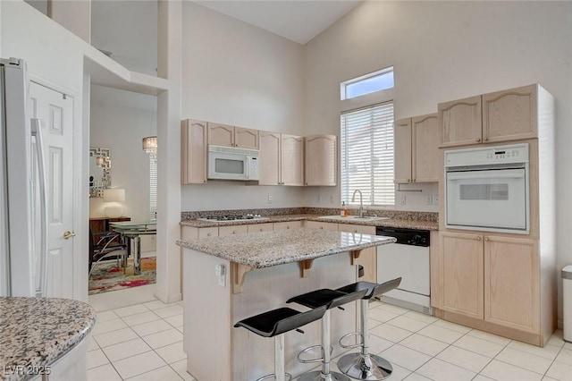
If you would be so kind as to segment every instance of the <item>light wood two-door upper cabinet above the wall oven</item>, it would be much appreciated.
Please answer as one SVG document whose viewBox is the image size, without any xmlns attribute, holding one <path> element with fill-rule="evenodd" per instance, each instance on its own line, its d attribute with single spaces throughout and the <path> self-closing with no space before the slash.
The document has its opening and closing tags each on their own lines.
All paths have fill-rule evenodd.
<svg viewBox="0 0 572 381">
<path fill-rule="evenodd" d="M 441 147 L 536 138 L 538 90 L 535 84 L 440 103 Z"/>
</svg>

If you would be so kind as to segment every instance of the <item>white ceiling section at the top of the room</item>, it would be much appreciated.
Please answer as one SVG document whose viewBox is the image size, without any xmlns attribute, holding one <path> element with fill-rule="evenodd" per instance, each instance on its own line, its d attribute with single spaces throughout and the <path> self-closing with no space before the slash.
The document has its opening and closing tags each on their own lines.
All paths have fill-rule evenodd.
<svg viewBox="0 0 572 381">
<path fill-rule="evenodd" d="M 197 0 L 216 12 L 305 45 L 362 0 Z"/>
</svg>

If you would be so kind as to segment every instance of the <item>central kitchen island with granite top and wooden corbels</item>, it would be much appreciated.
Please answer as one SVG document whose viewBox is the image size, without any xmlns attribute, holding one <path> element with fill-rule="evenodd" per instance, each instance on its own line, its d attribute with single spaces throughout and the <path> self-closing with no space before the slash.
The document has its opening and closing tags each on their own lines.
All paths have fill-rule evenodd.
<svg viewBox="0 0 572 381">
<path fill-rule="evenodd" d="M 177 241 L 183 250 L 183 348 L 187 370 L 202 380 L 248 380 L 273 373 L 273 340 L 232 326 L 285 306 L 300 293 L 357 280 L 360 251 L 394 242 L 361 233 L 294 229 Z M 294 309 L 304 310 L 298 305 Z M 356 303 L 332 310 L 333 356 L 342 334 L 357 328 Z M 286 370 L 297 376 L 316 364 L 297 360 L 320 343 L 320 323 L 286 334 Z"/>
</svg>

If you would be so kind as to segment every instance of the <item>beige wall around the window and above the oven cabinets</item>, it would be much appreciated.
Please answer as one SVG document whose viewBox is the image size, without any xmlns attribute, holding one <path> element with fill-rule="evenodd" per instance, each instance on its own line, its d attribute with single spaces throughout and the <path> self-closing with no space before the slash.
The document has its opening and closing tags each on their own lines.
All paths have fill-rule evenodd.
<svg viewBox="0 0 572 381">
<path fill-rule="evenodd" d="M 306 46 L 305 125 L 337 133 L 339 83 L 391 65 L 396 119 L 436 112 L 439 102 L 542 84 L 556 98 L 561 268 L 572 263 L 570 41 L 571 2 L 366 2 Z M 307 199 L 316 199 L 317 191 Z"/>
</svg>

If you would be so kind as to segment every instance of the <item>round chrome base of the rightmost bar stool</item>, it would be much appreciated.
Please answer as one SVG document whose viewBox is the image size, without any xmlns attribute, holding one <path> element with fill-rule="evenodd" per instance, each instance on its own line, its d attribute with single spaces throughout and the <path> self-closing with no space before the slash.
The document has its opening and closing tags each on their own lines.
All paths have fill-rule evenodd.
<svg viewBox="0 0 572 381">
<path fill-rule="evenodd" d="M 393 373 L 389 361 L 374 354 L 346 354 L 338 360 L 338 368 L 349 377 L 367 381 L 383 380 Z"/>
</svg>

